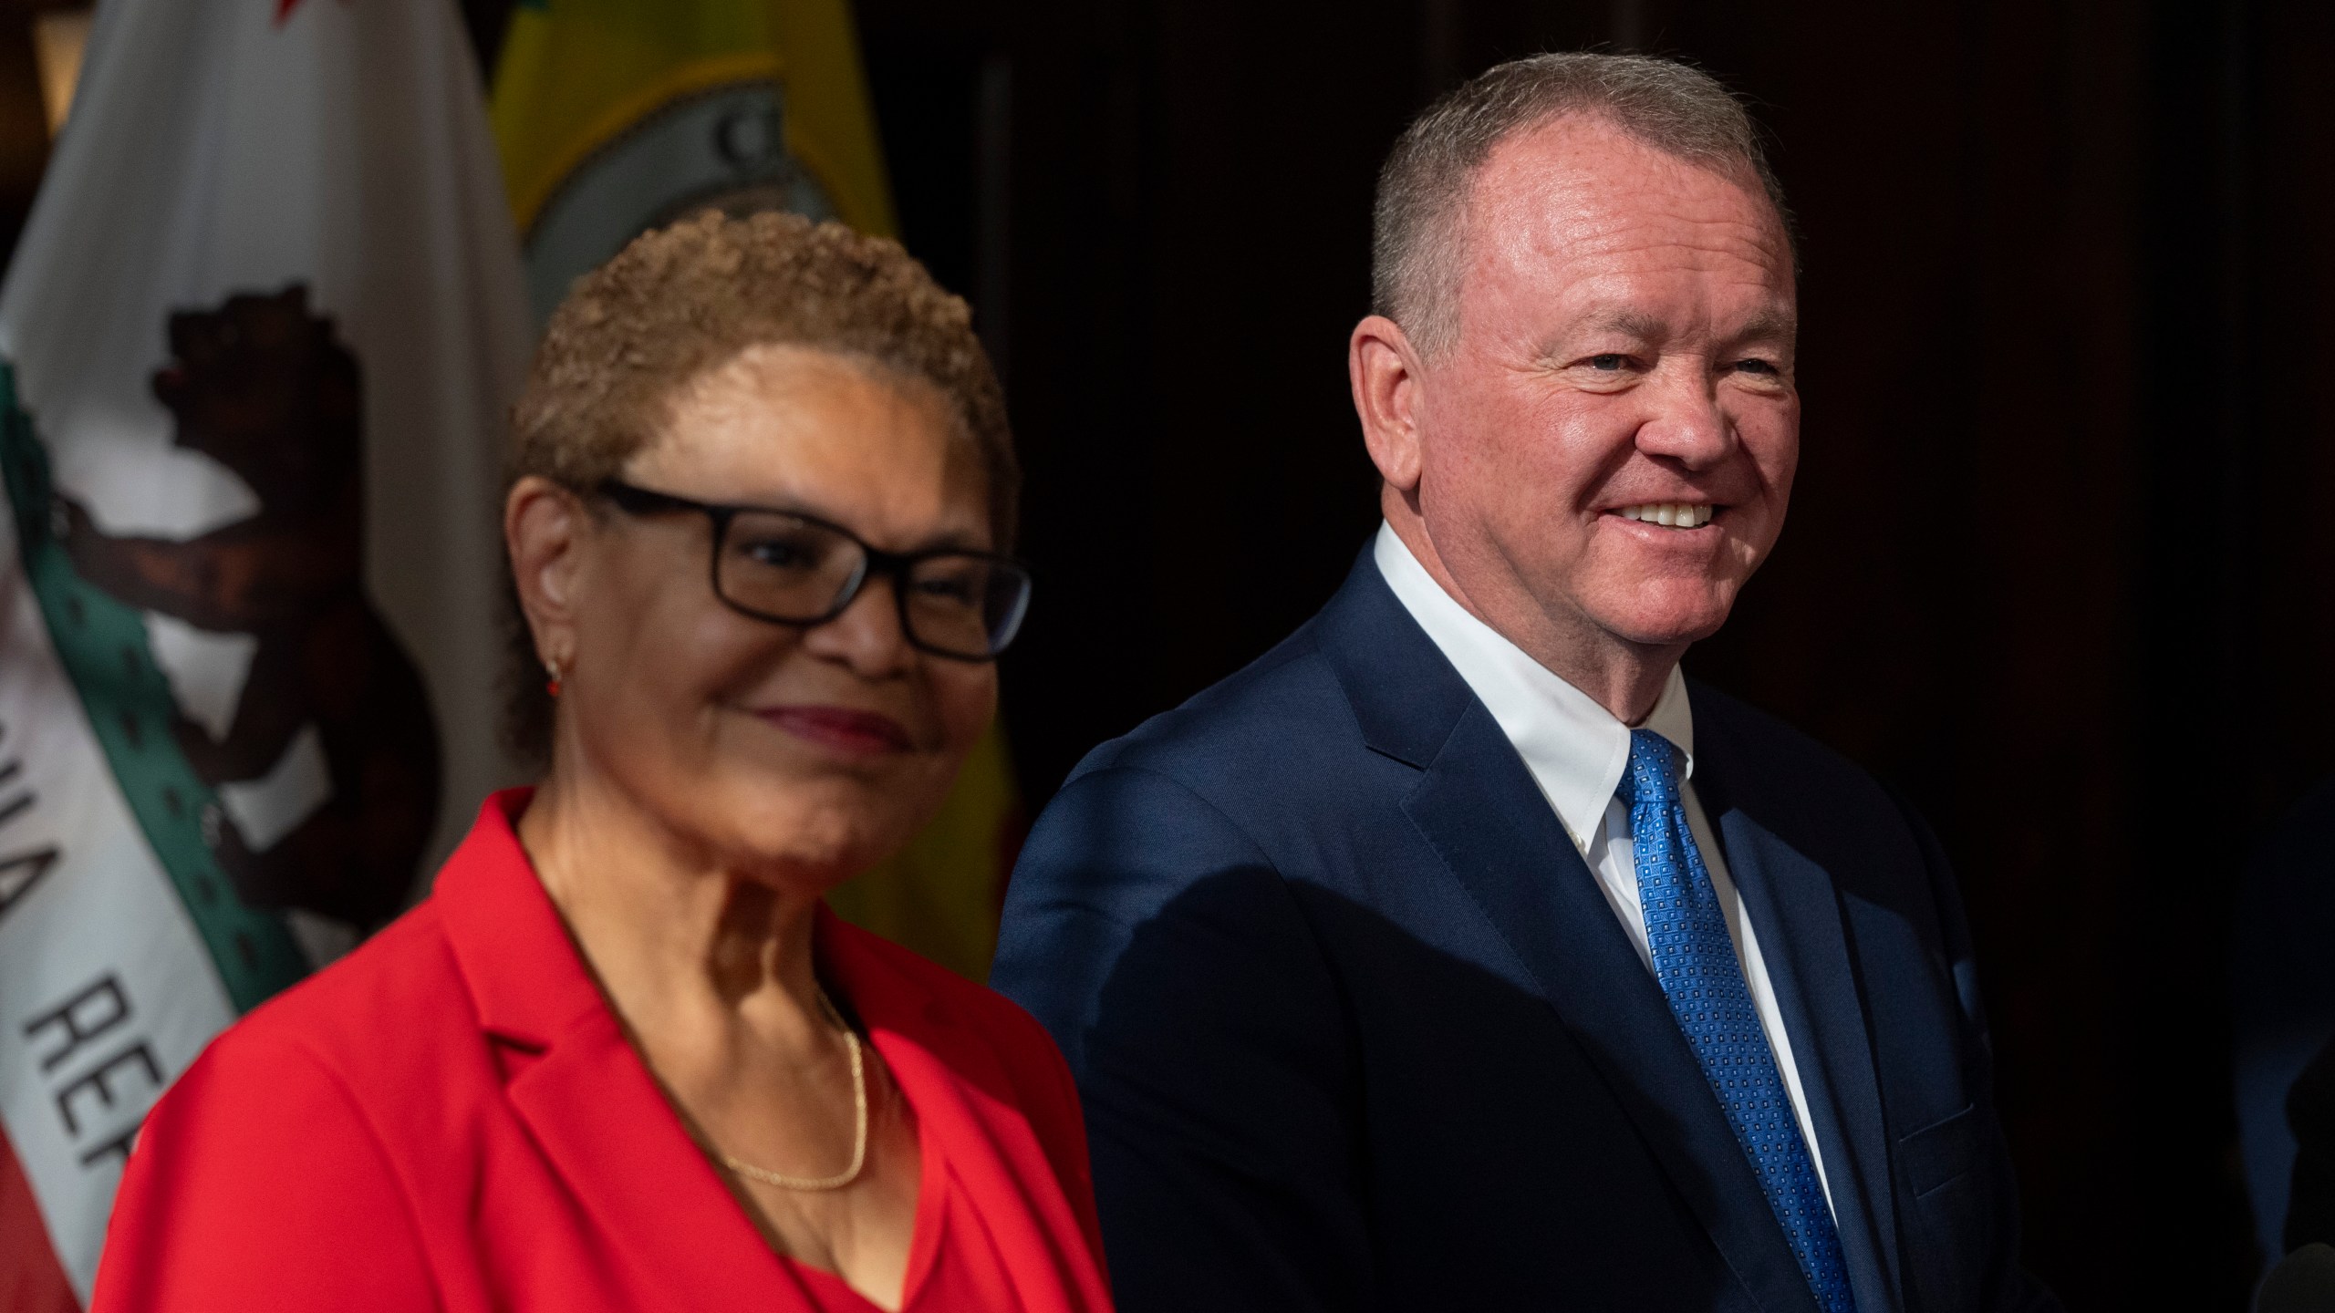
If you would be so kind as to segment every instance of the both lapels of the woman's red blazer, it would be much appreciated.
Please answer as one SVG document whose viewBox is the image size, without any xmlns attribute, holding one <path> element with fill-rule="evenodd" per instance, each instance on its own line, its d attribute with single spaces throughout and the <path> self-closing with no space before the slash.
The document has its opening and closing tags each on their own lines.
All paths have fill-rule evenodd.
<svg viewBox="0 0 2335 1313">
<path fill-rule="evenodd" d="M 432 902 L 514 1114 L 565 1182 L 579 1222 L 607 1236 L 609 1290 L 677 1311 L 745 1297 L 808 1313 L 817 1301 L 803 1278 L 731 1199 L 586 972 L 511 829 L 525 804 L 528 790 L 488 799 Z M 820 956 L 922 1124 L 925 1189 L 946 1168 L 969 1192 L 1023 1308 L 1107 1311 L 1102 1269 L 1020 1110 L 992 1023 L 920 981 L 904 949 L 827 909 Z M 934 1152 L 941 1163 L 929 1161 Z M 939 1217 L 920 1203 L 925 1220 Z M 936 1241 L 946 1243 L 915 1238 L 911 1280 Z"/>
</svg>

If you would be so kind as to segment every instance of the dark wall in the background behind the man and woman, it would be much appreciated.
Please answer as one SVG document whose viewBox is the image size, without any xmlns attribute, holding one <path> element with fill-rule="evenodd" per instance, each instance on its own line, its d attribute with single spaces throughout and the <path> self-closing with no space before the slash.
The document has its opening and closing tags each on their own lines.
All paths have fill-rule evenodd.
<svg viewBox="0 0 2335 1313">
<path fill-rule="evenodd" d="M 507 7 L 465 0 L 483 47 Z M 1041 591 L 1006 715 L 1032 806 L 1303 621 L 1375 526 L 1345 334 L 1410 114 L 1592 44 L 1749 96 L 1805 234 L 1803 465 L 1688 668 L 1940 829 L 2029 1266 L 2073 1308 L 2244 1306 L 2230 902 L 2335 729 L 2335 7 L 857 9 L 906 243 L 974 299 L 1027 465 Z M 19 65 L 0 42 L 0 98 Z M 0 238 L 37 136 L 0 131 Z"/>
</svg>

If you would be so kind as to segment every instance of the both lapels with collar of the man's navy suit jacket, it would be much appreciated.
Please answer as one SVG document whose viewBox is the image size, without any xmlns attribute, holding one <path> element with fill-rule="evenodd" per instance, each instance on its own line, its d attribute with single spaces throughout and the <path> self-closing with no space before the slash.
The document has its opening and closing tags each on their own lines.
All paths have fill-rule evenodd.
<svg viewBox="0 0 2335 1313">
<path fill-rule="evenodd" d="M 1772 1311 L 1814 1311 L 1782 1224 L 1735 1140 L 1670 1002 L 1630 946 L 1548 799 L 1499 724 L 1387 589 L 1364 549 L 1317 619 L 1317 642 L 1354 708 L 1364 743 L 1422 771 L 1410 820 L 1506 939 L 1581 1042 L 1672 1185 L 1737 1278 Z M 1831 876 L 1726 806 L 1728 727 L 1695 706 L 1695 792 L 1719 839 L 1810 1093 L 1842 1250 L 1866 1313 L 1901 1308 L 1896 1206 L 1873 1040 Z M 1709 724 L 1707 724 L 1709 722 Z M 1877 1299 L 1875 1299 L 1877 1297 Z"/>
</svg>

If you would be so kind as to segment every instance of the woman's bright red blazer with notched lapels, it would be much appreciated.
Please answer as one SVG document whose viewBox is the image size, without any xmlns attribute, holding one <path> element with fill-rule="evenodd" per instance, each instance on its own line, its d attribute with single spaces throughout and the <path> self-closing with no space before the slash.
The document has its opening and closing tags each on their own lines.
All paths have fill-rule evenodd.
<svg viewBox="0 0 2335 1313">
<path fill-rule="evenodd" d="M 866 1313 L 782 1259 L 623 1040 L 495 794 L 420 906 L 154 1107 L 91 1313 Z M 1004 998 L 820 913 L 915 1110 L 906 1308 L 1104 1313 L 1069 1070 Z"/>
</svg>

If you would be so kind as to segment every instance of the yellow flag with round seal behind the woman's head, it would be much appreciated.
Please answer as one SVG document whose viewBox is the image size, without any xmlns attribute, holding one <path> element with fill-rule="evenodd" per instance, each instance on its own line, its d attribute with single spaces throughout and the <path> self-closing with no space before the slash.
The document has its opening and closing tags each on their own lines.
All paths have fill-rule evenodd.
<svg viewBox="0 0 2335 1313">
<path fill-rule="evenodd" d="M 537 325 L 623 243 L 703 208 L 899 229 L 848 0 L 523 0 L 493 124 Z M 1018 841 L 992 724 L 941 815 L 831 902 L 985 979 Z"/>
</svg>

